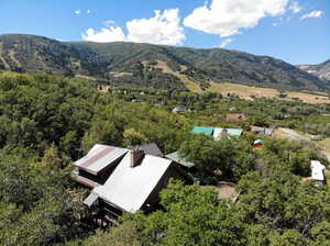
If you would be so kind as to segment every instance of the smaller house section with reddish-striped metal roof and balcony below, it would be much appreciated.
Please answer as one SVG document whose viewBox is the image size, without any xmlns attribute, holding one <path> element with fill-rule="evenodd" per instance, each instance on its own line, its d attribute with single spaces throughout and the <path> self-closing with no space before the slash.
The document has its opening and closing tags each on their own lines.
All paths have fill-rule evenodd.
<svg viewBox="0 0 330 246">
<path fill-rule="evenodd" d="M 72 178 L 89 189 L 102 185 L 128 152 L 127 148 L 96 144 L 86 156 L 74 163 L 76 168 Z"/>
</svg>

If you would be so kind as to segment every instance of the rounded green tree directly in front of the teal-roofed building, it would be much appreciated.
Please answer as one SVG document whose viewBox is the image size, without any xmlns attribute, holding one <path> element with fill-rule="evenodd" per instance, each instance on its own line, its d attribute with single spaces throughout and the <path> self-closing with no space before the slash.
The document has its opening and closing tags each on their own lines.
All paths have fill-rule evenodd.
<svg viewBox="0 0 330 246">
<path fill-rule="evenodd" d="M 179 154 L 196 164 L 201 183 L 219 180 L 215 170 L 221 170 L 224 178 L 237 181 L 254 169 L 255 153 L 250 143 L 235 137 L 215 141 L 204 134 L 191 135 L 183 143 Z"/>
</svg>

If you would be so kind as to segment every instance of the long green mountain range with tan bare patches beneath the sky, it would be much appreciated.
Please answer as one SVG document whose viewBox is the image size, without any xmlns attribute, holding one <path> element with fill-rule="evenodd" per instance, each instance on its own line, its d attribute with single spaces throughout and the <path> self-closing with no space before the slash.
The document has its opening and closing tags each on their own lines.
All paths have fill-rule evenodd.
<svg viewBox="0 0 330 246">
<path fill-rule="evenodd" d="M 0 35 L 0 69 L 76 76 L 114 85 L 185 90 L 191 85 L 206 89 L 211 82 L 229 81 L 284 90 L 330 91 L 330 62 L 304 66 L 222 48 Z"/>
</svg>

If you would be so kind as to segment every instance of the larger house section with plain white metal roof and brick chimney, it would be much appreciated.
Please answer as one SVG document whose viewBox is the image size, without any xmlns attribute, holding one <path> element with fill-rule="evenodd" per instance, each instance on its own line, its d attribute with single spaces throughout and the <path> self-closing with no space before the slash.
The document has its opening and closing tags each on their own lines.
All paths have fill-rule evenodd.
<svg viewBox="0 0 330 246">
<path fill-rule="evenodd" d="M 141 149 L 131 149 L 123 155 L 106 182 L 95 186 L 84 201 L 90 209 L 102 210 L 110 222 L 123 212 L 153 211 L 157 208 L 160 191 L 170 178 L 190 181 L 172 159 Z"/>
</svg>

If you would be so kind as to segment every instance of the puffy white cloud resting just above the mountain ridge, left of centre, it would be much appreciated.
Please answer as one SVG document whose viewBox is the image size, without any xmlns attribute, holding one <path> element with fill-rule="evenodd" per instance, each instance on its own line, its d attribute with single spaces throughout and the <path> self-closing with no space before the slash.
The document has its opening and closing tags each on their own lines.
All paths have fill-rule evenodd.
<svg viewBox="0 0 330 246">
<path fill-rule="evenodd" d="M 127 22 L 128 34 L 121 27 L 114 26 L 113 21 L 107 21 L 106 27 L 100 31 L 88 29 L 82 34 L 82 40 L 92 42 L 128 41 L 136 43 L 152 43 L 177 45 L 186 38 L 180 26 L 178 9 L 156 10 L 150 19 L 135 19 Z"/>
</svg>

